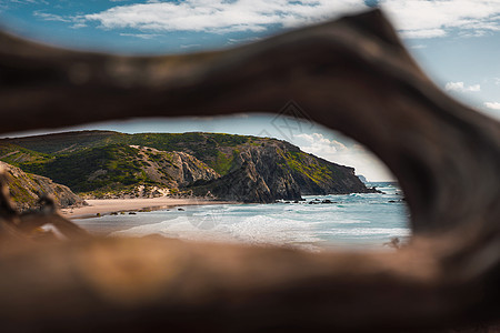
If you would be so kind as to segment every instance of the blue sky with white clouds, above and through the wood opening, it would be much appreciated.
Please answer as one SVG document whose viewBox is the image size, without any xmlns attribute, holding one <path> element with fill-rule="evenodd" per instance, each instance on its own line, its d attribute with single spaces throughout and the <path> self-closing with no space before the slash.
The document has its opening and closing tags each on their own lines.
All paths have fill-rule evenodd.
<svg viewBox="0 0 500 333">
<path fill-rule="evenodd" d="M 187 53 L 237 47 L 376 6 L 388 14 L 438 87 L 500 120 L 500 0 L 0 0 L 0 26 L 64 48 L 124 54 Z M 307 115 L 307 110 L 301 112 Z M 392 179 L 358 143 L 283 114 L 278 119 L 239 114 L 134 120 L 74 129 L 273 137 L 354 167 L 369 180 Z"/>
</svg>

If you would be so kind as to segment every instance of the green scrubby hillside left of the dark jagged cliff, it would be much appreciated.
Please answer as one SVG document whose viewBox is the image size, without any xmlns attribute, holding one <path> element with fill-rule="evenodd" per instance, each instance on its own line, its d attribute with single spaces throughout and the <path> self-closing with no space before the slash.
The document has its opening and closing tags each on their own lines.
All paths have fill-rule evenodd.
<svg viewBox="0 0 500 333">
<path fill-rule="evenodd" d="M 4 144 L 3 157 L 9 161 L 16 159 L 16 165 L 26 172 L 98 196 L 118 192 L 133 196 L 133 189 L 139 185 L 178 190 L 199 179 L 219 176 L 209 165 L 189 154 L 123 143 L 101 144 L 94 141 L 90 148 L 80 144 L 76 151 L 64 150 L 64 153 L 52 155 Z M 43 142 L 42 148 L 47 147 L 49 144 Z"/>
</svg>

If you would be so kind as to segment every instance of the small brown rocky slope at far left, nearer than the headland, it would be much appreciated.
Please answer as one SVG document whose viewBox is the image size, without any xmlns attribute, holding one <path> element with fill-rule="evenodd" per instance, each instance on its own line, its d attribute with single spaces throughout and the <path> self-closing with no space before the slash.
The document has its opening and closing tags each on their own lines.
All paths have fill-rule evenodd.
<svg viewBox="0 0 500 333">
<path fill-rule="evenodd" d="M 10 194 L 17 208 L 21 211 L 37 206 L 38 200 L 43 195 L 52 196 L 59 208 L 86 204 L 68 186 L 54 183 L 46 176 L 26 173 L 21 169 L 4 162 L 0 162 L 0 169 L 7 171 L 10 175 Z"/>
</svg>

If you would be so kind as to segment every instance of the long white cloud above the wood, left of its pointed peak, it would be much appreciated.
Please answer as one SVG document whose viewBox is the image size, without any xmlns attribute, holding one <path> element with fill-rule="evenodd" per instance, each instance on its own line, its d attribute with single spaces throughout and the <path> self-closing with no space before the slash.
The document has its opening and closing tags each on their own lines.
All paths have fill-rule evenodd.
<svg viewBox="0 0 500 333">
<path fill-rule="evenodd" d="M 296 27 L 366 8 L 361 0 L 186 0 L 117 6 L 84 16 L 102 28 L 153 31 L 260 32 L 270 24 Z"/>
</svg>

